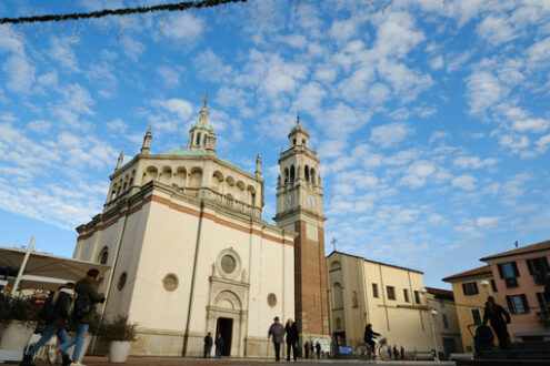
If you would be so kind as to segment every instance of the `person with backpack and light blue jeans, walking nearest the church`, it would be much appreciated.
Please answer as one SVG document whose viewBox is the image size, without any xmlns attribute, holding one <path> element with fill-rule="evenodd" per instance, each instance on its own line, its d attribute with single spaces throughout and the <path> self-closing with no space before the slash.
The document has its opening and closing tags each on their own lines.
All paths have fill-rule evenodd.
<svg viewBox="0 0 550 366">
<path fill-rule="evenodd" d="M 98 292 L 98 282 L 99 271 L 92 268 L 88 271 L 86 277 L 79 279 L 74 286 L 77 298 L 74 299 L 74 311 L 72 315 L 74 324 L 77 325 L 77 336 L 63 342 L 59 348 L 56 349 L 56 352 L 61 352 L 63 354 L 69 347 L 76 345 L 72 353 L 72 364 L 69 364 L 71 366 L 84 366 L 78 360 L 80 352 L 82 350 L 90 323 L 96 318 L 96 304 L 106 301 L 106 296 Z"/>
</svg>

